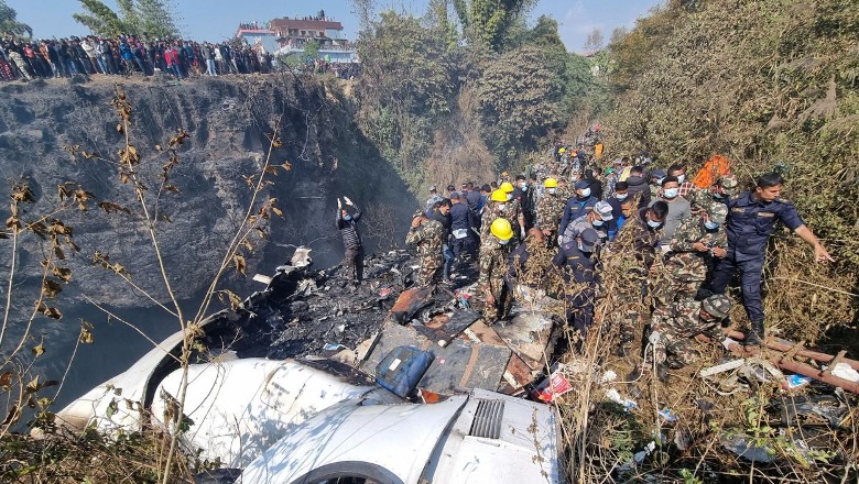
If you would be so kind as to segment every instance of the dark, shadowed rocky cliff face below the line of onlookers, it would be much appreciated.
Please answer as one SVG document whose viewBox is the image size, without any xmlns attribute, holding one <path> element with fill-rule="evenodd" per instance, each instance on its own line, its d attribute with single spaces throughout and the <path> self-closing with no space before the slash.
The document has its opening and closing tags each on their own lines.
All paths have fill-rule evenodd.
<svg viewBox="0 0 859 484">
<path fill-rule="evenodd" d="M 262 195 L 278 198 L 284 218 L 272 221 L 268 240 L 257 240 L 257 250 L 248 256 L 248 276 L 228 277 L 235 290 L 247 293 L 252 287 L 249 277 L 272 272 L 292 252 L 291 245 L 308 244 L 322 265 L 337 263 L 342 254 L 334 228 L 337 196 L 349 196 L 366 209 L 368 252 L 401 241 L 417 201 L 358 132 L 350 103 L 337 86 L 290 76 L 248 76 L 182 85 L 129 80 L 122 88 L 133 105 L 131 135 L 143 155 L 140 172 L 149 180 L 150 208 L 157 200 L 164 215 L 156 222 L 159 243 L 181 298 L 199 294 L 210 283 L 252 195 L 244 177 L 259 174 L 274 127 L 283 144 L 271 153 L 272 161 L 289 162 L 293 169 L 272 176 Z M 65 182 L 95 194 L 87 212 L 61 216 L 74 227 L 81 248 L 68 261 L 73 282 L 63 293 L 66 304 L 86 295 L 113 306 L 148 306 L 151 302 L 116 274 L 91 264 L 95 251 L 107 253 L 137 284 L 164 300 L 133 190 L 119 180 L 115 164 L 81 156 L 73 161 L 64 150 L 79 145 L 99 157 L 117 158 L 124 140 L 117 132 L 112 96 L 112 82 L 104 80 L 0 87 L 0 175 L 7 189 L 21 177 L 29 179 L 37 198 L 30 216 L 50 211 L 57 202 L 56 187 Z M 180 129 L 189 133 L 171 177 L 181 194 L 159 196 L 157 175 L 166 158 L 154 146 L 166 146 Z M 106 213 L 97 201 L 128 207 L 131 213 Z M 6 219 L 8 206 L 0 210 Z M 31 283 L 39 280 L 44 250 L 42 241 L 29 237 L 17 254 Z M 4 275 L 10 245 L 0 243 L 0 251 Z"/>
</svg>

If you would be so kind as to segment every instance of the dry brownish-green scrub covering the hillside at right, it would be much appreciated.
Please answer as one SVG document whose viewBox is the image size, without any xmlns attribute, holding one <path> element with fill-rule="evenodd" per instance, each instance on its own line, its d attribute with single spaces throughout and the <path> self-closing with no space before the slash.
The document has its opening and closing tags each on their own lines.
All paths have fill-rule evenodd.
<svg viewBox="0 0 859 484">
<path fill-rule="evenodd" d="M 721 153 L 742 184 L 783 170 L 784 195 L 837 263 L 813 264 L 786 231 L 773 238 L 768 318 L 811 340 L 849 323 L 859 263 L 856 3 L 671 1 L 612 43 L 610 54 L 611 153 L 646 151 L 660 166 L 693 168 Z"/>
</svg>

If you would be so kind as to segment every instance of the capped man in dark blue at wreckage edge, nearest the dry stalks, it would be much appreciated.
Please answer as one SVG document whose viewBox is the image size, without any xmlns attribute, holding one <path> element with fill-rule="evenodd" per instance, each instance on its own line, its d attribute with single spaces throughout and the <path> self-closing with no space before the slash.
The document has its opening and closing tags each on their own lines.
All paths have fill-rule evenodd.
<svg viewBox="0 0 859 484">
<path fill-rule="evenodd" d="M 564 298 L 567 307 L 567 322 L 581 333 L 594 322 L 594 299 L 597 279 L 594 272 L 594 251 L 599 235 L 594 229 L 586 229 L 573 240 L 564 242 L 552 263 L 564 270 Z"/>
</svg>

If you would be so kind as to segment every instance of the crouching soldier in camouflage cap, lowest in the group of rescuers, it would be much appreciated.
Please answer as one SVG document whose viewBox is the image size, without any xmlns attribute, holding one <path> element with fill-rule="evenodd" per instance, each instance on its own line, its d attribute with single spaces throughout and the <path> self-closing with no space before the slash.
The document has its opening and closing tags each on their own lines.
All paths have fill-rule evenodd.
<svg viewBox="0 0 859 484">
<path fill-rule="evenodd" d="M 664 322 L 654 322 L 650 341 L 655 348 L 656 376 L 660 381 L 667 383 L 668 369 L 682 369 L 698 359 L 694 341 L 696 336 L 721 339 L 721 321 L 730 315 L 731 306 L 728 296 L 717 294 L 700 302 L 686 300 L 676 305 Z"/>
</svg>

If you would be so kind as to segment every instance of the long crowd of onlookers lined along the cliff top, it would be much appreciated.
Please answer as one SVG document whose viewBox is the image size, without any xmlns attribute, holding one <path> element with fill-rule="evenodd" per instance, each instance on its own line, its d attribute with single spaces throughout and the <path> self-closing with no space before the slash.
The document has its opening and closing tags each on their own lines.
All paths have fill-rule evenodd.
<svg viewBox="0 0 859 484">
<path fill-rule="evenodd" d="M 333 73 L 349 79 L 359 65 L 308 59 L 307 72 Z M 0 42 L 0 80 L 72 77 L 75 75 L 152 76 L 176 79 L 225 74 L 268 74 L 276 69 L 272 53 L 243 42 L 194 42 L 182 38 L 142 40 L 132 35 L 95 35 L 59 40 L 7 37 Z"/>
</svg>

